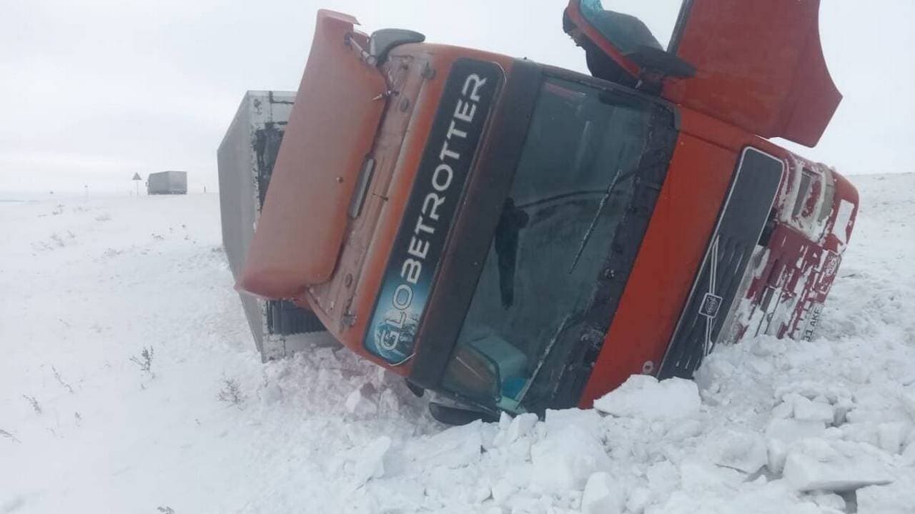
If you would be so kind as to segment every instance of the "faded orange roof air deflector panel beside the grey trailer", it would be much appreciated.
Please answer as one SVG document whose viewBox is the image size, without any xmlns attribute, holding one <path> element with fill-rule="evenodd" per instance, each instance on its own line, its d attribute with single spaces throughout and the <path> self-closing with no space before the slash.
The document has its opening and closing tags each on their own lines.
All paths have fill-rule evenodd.
<svg viewBox="0 0 915 514">
<path fill-rule="evenodd" d="M 387 85 L 347 45 L 356 20 L 318 11 L 315 38 L 276 156 L 264 209 L 238 284 L 266 298 L 295 298 L 331 277 Z"/>
</svg>

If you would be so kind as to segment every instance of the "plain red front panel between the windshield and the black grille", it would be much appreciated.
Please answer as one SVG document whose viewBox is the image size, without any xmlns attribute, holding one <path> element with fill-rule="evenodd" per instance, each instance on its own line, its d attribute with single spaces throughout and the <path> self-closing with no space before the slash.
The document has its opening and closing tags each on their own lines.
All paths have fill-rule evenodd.
<svg viewBox="0 0 915 514">
<path fill-rule="evenodd" d="M 715 227 L 737 154 L 681 134 L 616 316 L 585 385 L 588 408 L 646 362 L 657 369 Z"/>
</svg>

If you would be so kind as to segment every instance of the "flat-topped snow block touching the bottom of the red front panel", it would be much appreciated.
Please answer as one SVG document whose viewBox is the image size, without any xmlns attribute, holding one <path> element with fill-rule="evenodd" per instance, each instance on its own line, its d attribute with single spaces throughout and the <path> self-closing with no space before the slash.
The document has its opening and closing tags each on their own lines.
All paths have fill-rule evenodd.
<svg viewBox="0 0 915 514">
<path fill-rule="evenodd" d="M 658 381 L 650 375 L 632 375 L 619 388 L 594 402 L 594 408 L 619 417 L 673 420 L 694 416 L 702 401 L 693 380 Z"/>
</svg>

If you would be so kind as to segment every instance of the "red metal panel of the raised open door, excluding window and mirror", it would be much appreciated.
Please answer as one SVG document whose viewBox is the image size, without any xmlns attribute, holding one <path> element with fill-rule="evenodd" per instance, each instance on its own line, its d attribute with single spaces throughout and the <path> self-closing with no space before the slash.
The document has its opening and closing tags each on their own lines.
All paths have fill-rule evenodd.
<svg viewBox="0 0 915 514">
<path fill-rule="evenodd" d="M 820 47 L 819 0 L 694 0 L 663 95 L 763 137 L 813 146 L 842 95 Z"/>
</svg>

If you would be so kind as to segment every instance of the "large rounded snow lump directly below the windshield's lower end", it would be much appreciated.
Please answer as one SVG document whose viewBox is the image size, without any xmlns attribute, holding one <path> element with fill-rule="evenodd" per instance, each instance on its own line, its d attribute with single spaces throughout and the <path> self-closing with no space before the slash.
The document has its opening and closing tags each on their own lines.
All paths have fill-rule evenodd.
<svg viewBox="0 0 915 514">
<path fill-rule="evenodd" d="M 581 490 L 587 477 L 610 469 L 604 447 L 586 428 L 566 425 L 531 446 L 532 481 L 545 491 Z"/>
</svg>

